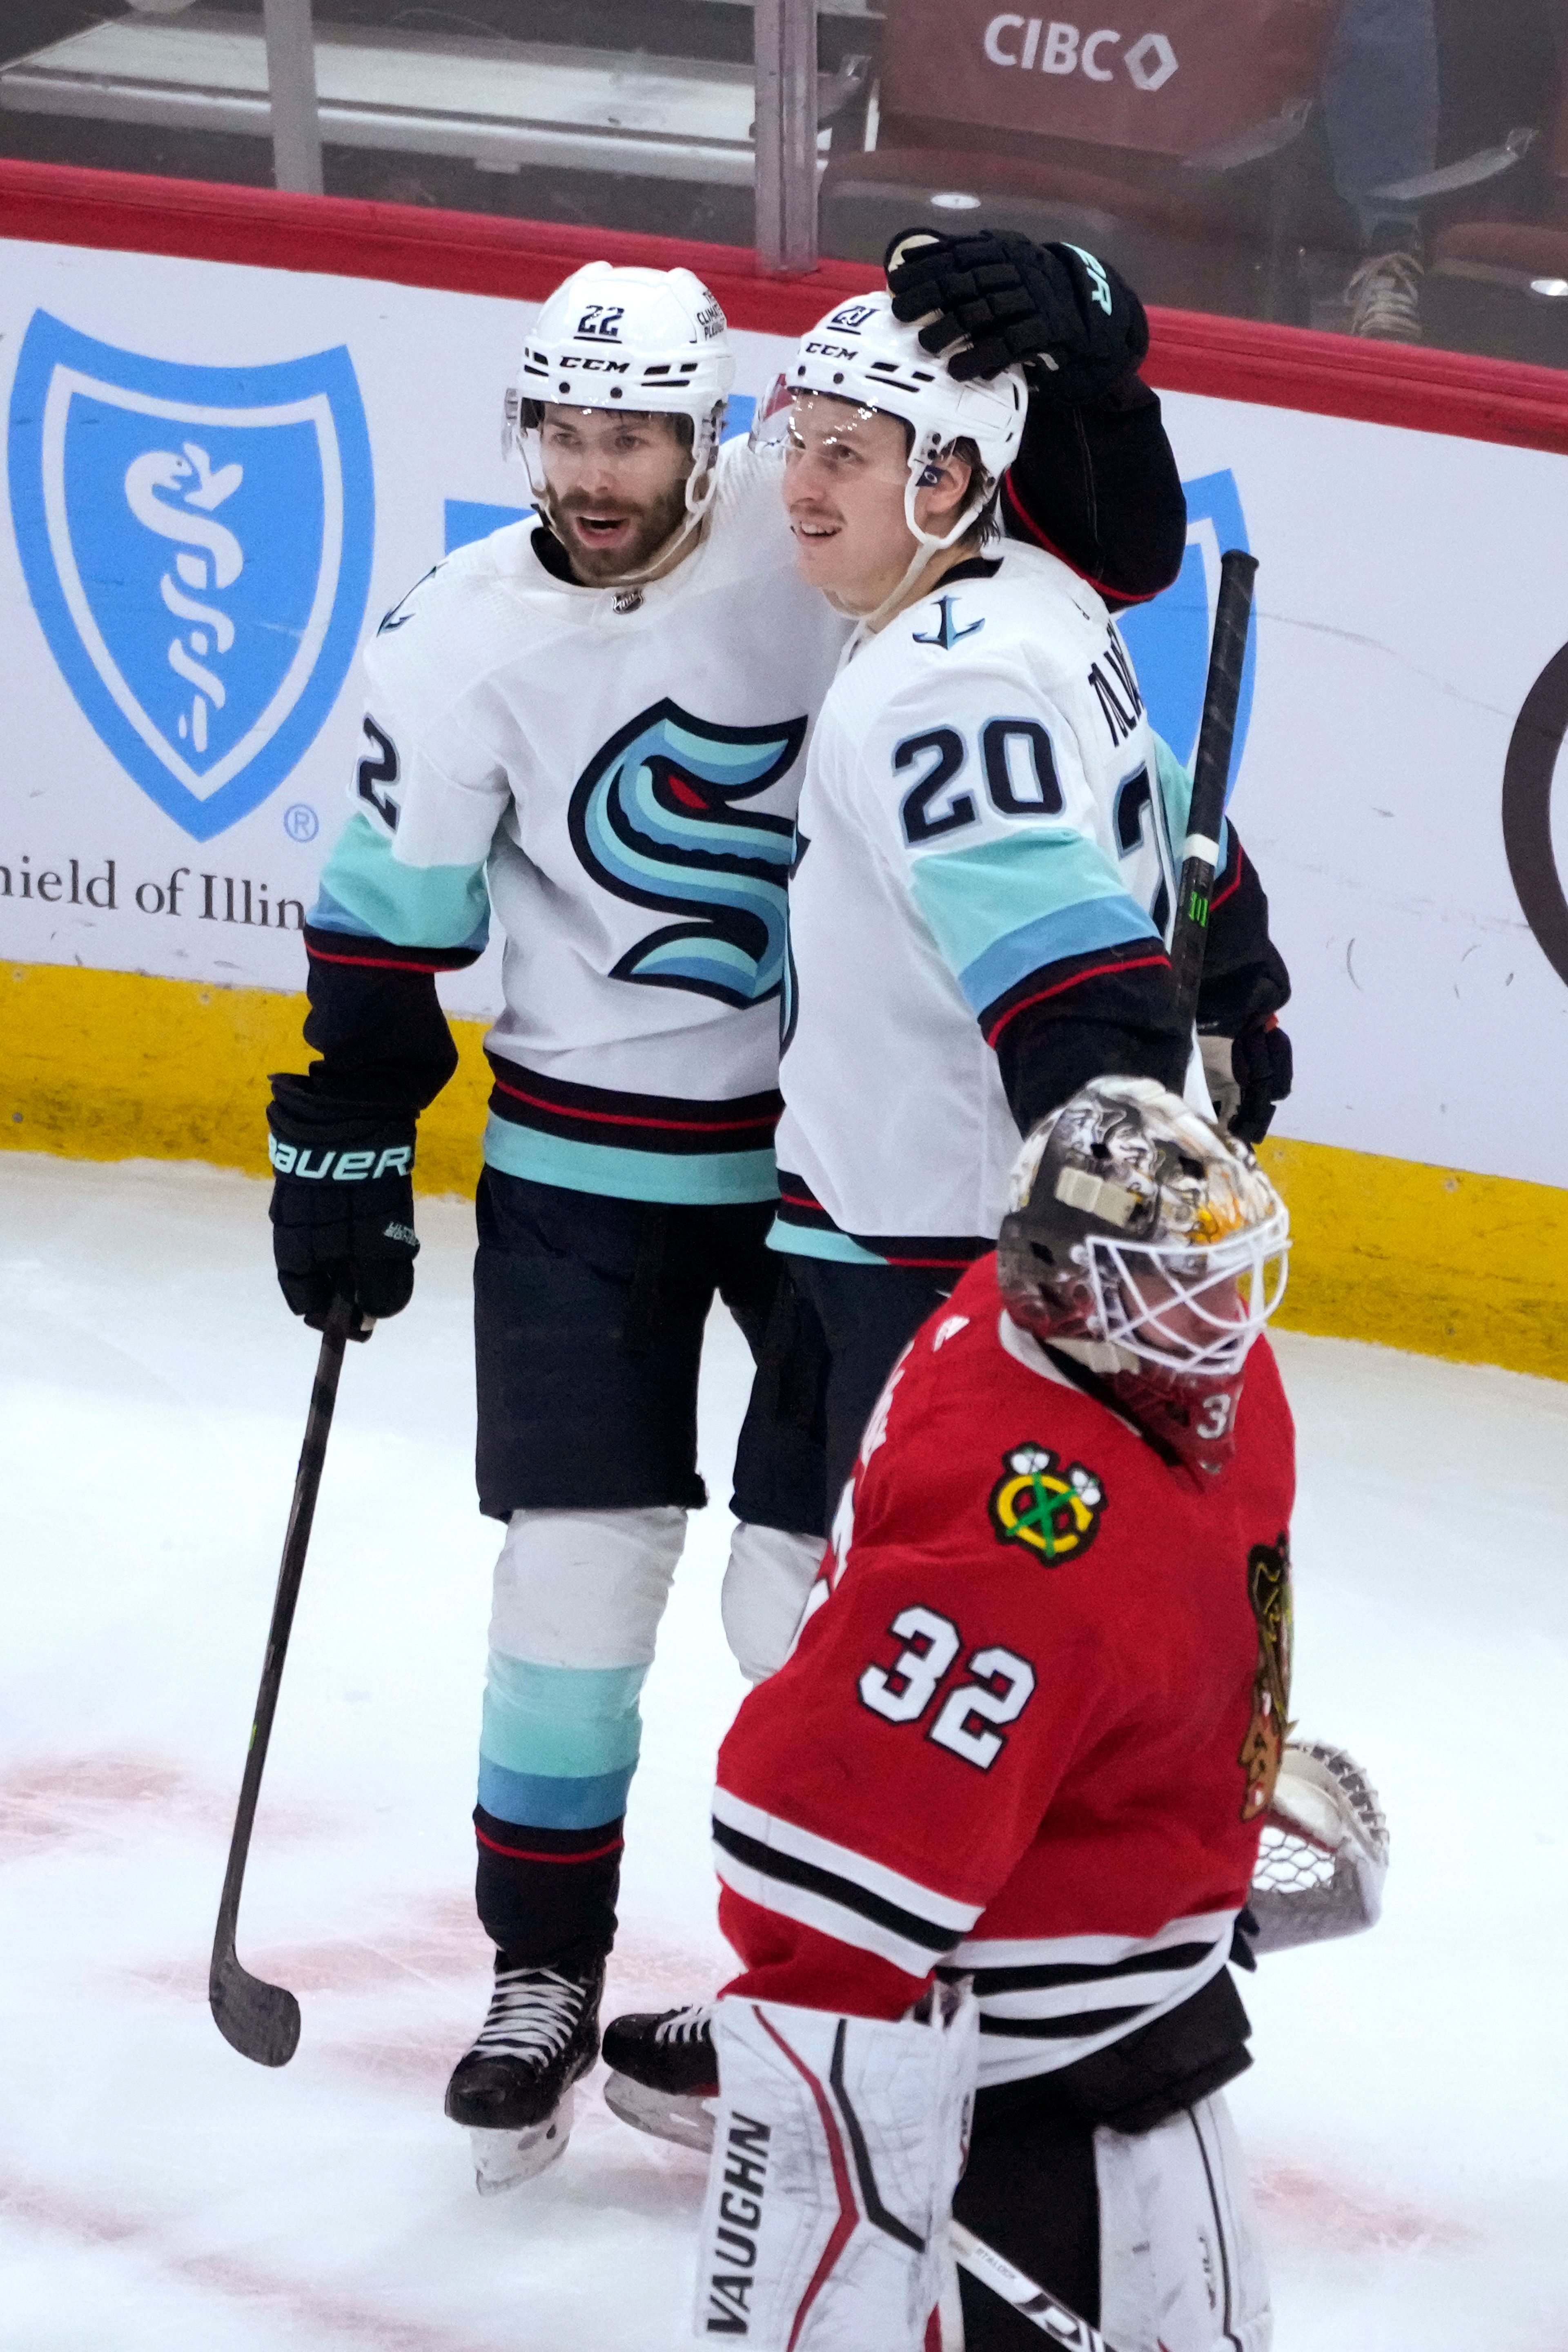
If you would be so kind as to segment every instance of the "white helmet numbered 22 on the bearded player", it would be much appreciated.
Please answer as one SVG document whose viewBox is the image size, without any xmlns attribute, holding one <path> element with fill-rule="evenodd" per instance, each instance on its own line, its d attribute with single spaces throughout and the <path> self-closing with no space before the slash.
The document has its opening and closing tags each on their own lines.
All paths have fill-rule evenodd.
<svg viewBox="0 0 1568 2352">
<path fill-rule="evenodd" d="M 505 395 L 503 449 L 520 452 L 548 513 L 538 426 L 548 405 L 691 419 L 686 513 L 715 489 L 724 402 L 736 381 L 724 310 L 691 270 L 590 261 L 550 294 L 529 327 Z"/>
</svg>

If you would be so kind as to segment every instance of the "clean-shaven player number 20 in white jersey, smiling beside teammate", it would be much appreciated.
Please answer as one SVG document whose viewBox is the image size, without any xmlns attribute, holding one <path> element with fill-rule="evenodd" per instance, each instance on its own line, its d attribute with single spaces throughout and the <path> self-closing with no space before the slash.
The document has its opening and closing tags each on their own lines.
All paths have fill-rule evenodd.
<svg viewBox="0 0 1568 2352">
<path fill-rule="evenodd" d="M 1166 941 L 1192 786 L 1103 597 L 990 529 L 1020 430 L 1013 369 L 957 381 L 865 296 L 804 339 L 757 433 L 802 574 L 860 616 L 797 816 L 790 1282 L 748 1418 L 825 1432 L 827 1512 L 889 1364 L 992 1247 L 1018 1136 L 1093 1075 L 1180 1084 L 1190 1061 Z M 1244 1080 L 1241 1136 L 1288 1089 L 1286 995 L 1227 828 L 1199 1025 Z M 1197 1054 L 1190 1091 L 1208 1105 Z M 797 1524 L 783 1494 L 762 1510 Z"/>
</svg>

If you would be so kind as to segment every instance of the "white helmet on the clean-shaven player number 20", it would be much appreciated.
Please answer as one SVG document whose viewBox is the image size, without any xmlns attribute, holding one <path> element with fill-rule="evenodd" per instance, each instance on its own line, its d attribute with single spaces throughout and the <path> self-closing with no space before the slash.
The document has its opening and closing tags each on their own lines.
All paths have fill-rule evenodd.
<svg viewBox="0 0 1568 2352">
<path fill-rule="evenodd" d="M 1023 367 L 1004 367 L 990 383 L 957 383 L 947 362 L 922 346 L 919 329 L 893 318 L 891 294 L 853 294 L 802 336 L 795 360 L 757 412 L 755 447 L 783 447 L 797 393 L 827 393 L 910 426 L 903 513 L 919 548 L 917 564 L 971 529 L 1018 456 L 1030 405 Z M 929 468 L 959 440 L 971 440 L 980 452 L 980 477 L 959 520 L 938 539 L 914 520 L 914 494 L 931 480 Z"/>
</svg>

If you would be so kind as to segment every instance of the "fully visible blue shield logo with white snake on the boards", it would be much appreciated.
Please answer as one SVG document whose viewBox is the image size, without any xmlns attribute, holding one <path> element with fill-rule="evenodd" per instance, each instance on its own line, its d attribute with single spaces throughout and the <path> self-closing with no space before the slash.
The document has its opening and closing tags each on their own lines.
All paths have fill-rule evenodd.
<svg viewBox="0 0 1568 2352">
<path fill-rule="evenodd" d="M 33 607 L 96 734 L 193 840 L 249 816 L 360 642 L 374 485 L 348 350 L 186 367 L 35 310 L 9 480 Z"/>
</svg>

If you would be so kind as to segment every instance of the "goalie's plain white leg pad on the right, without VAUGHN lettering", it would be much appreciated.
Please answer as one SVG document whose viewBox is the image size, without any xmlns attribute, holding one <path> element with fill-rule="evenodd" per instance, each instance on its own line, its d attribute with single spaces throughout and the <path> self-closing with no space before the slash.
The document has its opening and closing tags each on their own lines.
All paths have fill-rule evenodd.
<svg viewBox="0 0 1568 2352">
<path fill-rule="evenodd" d="M 1095 2131 L 1100 2328 L 1117 2352 L 1269 2352 L 1274 2314 L 1225 2098 Z"/>
</svg>

